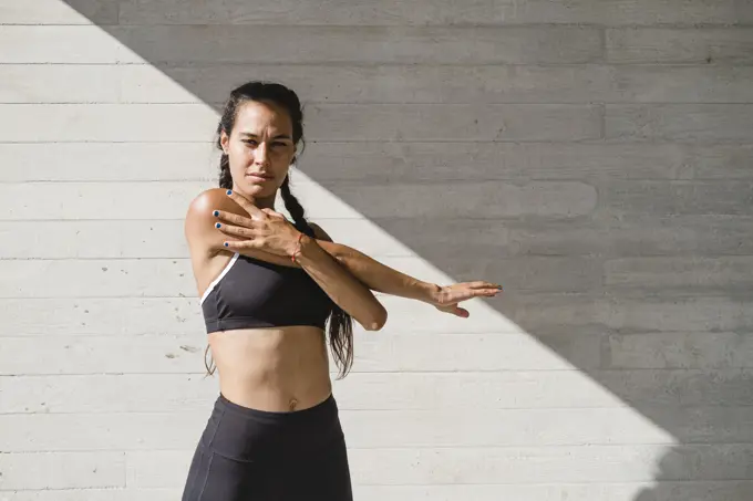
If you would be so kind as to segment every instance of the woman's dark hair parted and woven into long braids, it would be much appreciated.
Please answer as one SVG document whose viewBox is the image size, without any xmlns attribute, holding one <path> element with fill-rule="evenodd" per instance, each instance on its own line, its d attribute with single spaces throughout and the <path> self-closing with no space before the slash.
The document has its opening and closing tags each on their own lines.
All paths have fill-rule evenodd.
<svg viewBox="0 0 753 501">
<path fill-rule="evenodd" d="M 217 148 L 223 150 L 219 136 L 223 131 L 229 136 L 235 126 L 235 119 L 240 105 L 249 101 L 266 101 L 272 102 L 278 106 L 287 109 L 292 122 L 292 142 L 298 144 L 301 142 L 306 146 L 303 139 L 303 111 L 301 103 L 296 93 L 281 85 L 272 82 L 254 81 L 240 85 L 230 92 L 230 97 L 225 103 L 223 116 L 217 125 Z M 293 157 L 293 163 L 296 157 Z M 229 157 L 223 152 L 219 159 L 219 187 L 230 189 L 233 188 L 233 176 L 230 175 Z M 286 176 L 280 194 L 285 208 L 293 219 L 293 226 L 298 231 L 311 238 L 314 237 L 313 229 L 306 220 L 306 211 L 298 199 L 290 191 L 290 174 Z M 337 304 L 332 304 L 332 311 L 328 319 L 329 321 L 329 340 L 332 354 L 337 365 L 340 367 L 338 378 L 343 378 L 351 366 L 353 365 L 353 321 L 352 317 L 345 313 Z M 205 361 L 206 363 L 206 361 Z"/>
</svg>

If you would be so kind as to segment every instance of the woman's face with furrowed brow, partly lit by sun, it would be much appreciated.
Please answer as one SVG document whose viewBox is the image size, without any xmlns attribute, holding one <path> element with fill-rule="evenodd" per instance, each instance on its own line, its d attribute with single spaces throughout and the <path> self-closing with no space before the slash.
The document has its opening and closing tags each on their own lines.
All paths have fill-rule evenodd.
<svg viewBox="0 0 753 501">
<path fill-rule="evenodd" d="M 234 189 L 251 198 L 274 197 L 296 155 L 290 115 L 268 102 L 241 104 L 220 145 L 229 157 Z"/>
</svg>

